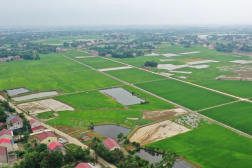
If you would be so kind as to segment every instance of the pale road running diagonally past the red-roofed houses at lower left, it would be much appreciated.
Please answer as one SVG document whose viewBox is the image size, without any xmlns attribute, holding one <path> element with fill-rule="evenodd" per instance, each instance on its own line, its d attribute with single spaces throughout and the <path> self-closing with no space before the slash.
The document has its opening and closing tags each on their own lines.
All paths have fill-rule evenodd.
<svg viewBox="0 0 252 168">
<path fill-rule="evenodd" d="M 0 99 L 6 101 L 6 99 L 5 99 L 4 97 L 2 97 L 1 95 L 0 95 Z M 9 102 L 9 104 L 10 104 L 10 106 L 11 106 L 12 108 L 15 108 L 15 109 L 16 109 L 17 113 L 23 113 L 23 111 L 20 110 L 18 107 L 16 107 L 14 104 L 12 104 L 12 103 L 10 103 L 10 102 Z M 26 113 L 23 113 L 23 114 L 25 115 L 25 117 L 26 117 L 27 120 L 35 119 L 35 118 L 29 116 L 29 115 L 26 114 Z M 56 129 L 56 128 L 53 128 L 52 126 L 47 125 L 47 124 L 45 124 L 44 122 L 41 122 L 41 125 L 44 126 L 44 127 L 47 128 L 47 129 L 51 130 L 52 132 L 55 132 L 56 134 L 58 134 L 58 135 L 60 135 L 60 136 L 62 136 L 62 137 L 66 137 L 69 143 L 76 144 L 76 145 L 78 145 L 78 146 L 81 146 L 82 148 L 88 148 L 88 146 L 86 146 L 86 145 L 84 145 L 83 143 L 81 143 L 78 139 L 76 139 L 76 138 L 74 138 L 74 137 L 71 137 L 71 136 L 69 136 L 68 134 L 66 134 L 66 133 L 64 133 L 64 132 L 62 132 L 62 131 L 60 131 L 60 130 L 58 130 L 58 129 Z M 95 154 L 95 151 L 92 150 L 92 149 L 90 149 L 90 153 L 91 153 L 90 155 L 94 158 L 95 155 L 96 155 L 96 154 Z M 104 160 L 103 158 L 101 158 L 101 157 L 98 157 L 98 162 L 102 163 L 105 167 L 116 168 L 116 166 L 114 166 L 114 165 L 108 163 L 107 161 L 105 161 L 105 160 Z"/>
</svg>

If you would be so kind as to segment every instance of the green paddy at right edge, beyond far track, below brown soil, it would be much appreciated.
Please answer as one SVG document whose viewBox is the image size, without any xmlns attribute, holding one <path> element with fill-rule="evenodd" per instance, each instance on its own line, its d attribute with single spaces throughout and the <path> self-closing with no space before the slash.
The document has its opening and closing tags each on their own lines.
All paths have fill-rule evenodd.
<svg viewBox="0 0 252 168">
<path fill-rule="evenodd" d="M 251 81 L 207 80 L 195 83 L 239 97 L 252 97 Z"/>
</svg>

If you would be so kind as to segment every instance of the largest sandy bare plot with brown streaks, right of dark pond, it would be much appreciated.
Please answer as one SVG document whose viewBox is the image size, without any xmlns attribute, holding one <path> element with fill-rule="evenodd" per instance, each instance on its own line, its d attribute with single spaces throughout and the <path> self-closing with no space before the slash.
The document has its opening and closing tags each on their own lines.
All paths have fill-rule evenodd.
<svg viewBox="0 0 252 168">
<path fill-rule="evenodd" d="M 190 129 L 167 120 L 139 128 L 130 138 L 130 141 L 146 145 L 187 131 L 190 131 Z"/>
</svg>

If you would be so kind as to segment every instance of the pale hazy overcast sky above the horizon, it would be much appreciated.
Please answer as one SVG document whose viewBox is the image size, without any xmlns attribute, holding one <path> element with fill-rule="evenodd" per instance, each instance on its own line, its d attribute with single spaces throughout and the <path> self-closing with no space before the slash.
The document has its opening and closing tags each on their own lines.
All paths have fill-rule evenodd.
<svg viewBox="0 0 252 168">
<path fill-rule="evenodd" d="M 252 25 L 252 0 L 0 0 L 0 26 Z"/>
</svg>

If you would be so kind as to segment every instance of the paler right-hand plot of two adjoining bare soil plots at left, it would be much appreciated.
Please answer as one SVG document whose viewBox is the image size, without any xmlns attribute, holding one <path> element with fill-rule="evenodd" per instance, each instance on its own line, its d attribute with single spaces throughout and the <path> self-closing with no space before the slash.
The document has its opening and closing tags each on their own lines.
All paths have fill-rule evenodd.
<svg viewBox="0 0 252 168">
<path fill-rule="evenodd" d="M 74 111 L 74 108 L 54 99 L 37 101 L 39 104 L 52 109 L 53 111 Z"/>
</svg>

